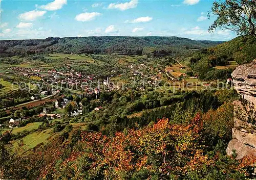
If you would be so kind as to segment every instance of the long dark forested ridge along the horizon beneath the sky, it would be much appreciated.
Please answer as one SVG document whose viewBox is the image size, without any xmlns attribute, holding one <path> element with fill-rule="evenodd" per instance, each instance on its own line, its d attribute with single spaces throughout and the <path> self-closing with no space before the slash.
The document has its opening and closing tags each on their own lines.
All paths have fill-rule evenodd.
<svg viewBox="0 0 256 180">
<path fill-rule="evenodd" d="M 196 41 L 179 37 L 67 37 L 44 40 L 0 41 L 0 55 L 14 56 L 37 53 L 88 53 L 127 55 L 184 55 L 194 49 L 222 42 Z"/>
</svg>

